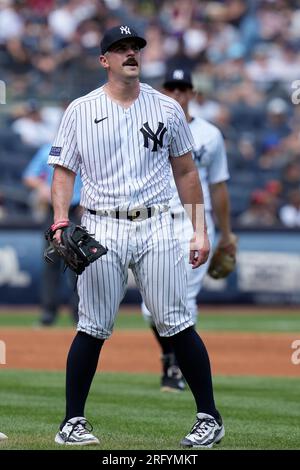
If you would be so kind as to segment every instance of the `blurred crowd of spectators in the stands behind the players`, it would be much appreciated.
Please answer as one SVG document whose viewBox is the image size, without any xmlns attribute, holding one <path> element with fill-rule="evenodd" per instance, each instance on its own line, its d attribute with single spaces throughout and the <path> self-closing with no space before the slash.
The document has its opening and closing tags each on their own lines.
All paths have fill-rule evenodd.
<svg viewBox="0 0 300 470">
<path fill-rule="evenodd" d="M 99 43 L 120 23 L 147 39 L 143 82 L 192 71 L 190 112 L 225 138 L 233 222 L 300 227 L 300 0 L 0 0 L 0 219 L 26 212 L 23 168 L 105 81 Z"/>
</svg>

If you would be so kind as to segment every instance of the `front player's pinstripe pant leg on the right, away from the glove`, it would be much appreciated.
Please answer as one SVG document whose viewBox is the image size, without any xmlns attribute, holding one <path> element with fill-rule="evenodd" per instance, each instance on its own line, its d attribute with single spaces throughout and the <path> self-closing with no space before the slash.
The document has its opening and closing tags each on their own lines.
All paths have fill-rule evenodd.
<svg viewBox="0 0 300 470">
<path fill-rule="evenodd" d="M 193 324 L 183 252 L 169 213 L 140 222 L 132 271 L 161 336 L 172 336 Z"/>
</svg>

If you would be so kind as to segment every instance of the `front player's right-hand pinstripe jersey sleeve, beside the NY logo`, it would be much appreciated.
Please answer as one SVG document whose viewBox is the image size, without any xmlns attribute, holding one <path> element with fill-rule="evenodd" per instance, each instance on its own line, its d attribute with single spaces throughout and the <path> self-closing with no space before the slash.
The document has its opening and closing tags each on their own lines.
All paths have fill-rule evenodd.
<svg viewBox="0 0 300 470">
<path fill-rule="evenodd" d="M 170 157 L 180 157 L 190 152 L 195 145 L 194 139 L 185 118 L 183 109 L 174 100 L 174 118 L 169 146 Z"/>
</svg>

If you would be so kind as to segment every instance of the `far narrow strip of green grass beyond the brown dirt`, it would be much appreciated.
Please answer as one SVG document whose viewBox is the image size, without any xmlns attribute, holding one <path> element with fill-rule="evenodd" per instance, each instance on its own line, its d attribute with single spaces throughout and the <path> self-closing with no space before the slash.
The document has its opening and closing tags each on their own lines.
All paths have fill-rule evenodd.
<svg viewBox="0 0 300 470">
<path fill-rule="evenodd" d="M 7 311 L 0 310 L 1 326 L 35 326 L 38 322 L 37 310 L 25 309 Z M 71 320 L 69 315 L 63 311 L 58 317 L 58 327 L 69 327 Z M 117 317 L 116 328 L 119 329 L 147 329 L 147 325 L 136 309 L 123 309 Z M 216 307 L 204 309 L 198 317 L 198 330 L 202 331 L 253 331 L 253 332 L 274 332 L 288 333 L 300 332 L 300 310 L 296 309 L 276 309 L 274 314 L 266 313 L 264 309 L 253 310 L 241 307 L 239 310 Z"/>
</svg>

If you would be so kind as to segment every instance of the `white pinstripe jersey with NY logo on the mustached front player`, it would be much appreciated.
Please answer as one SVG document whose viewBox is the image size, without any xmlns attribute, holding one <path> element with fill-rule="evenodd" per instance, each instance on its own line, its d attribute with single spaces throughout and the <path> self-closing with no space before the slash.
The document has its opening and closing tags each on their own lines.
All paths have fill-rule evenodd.
<svg viewBox="0 0 300 470">
<path fill-rule="evenodd" d="M 184 155 L 193 144 L 172 98 L 141 83 L 125 109 L 102 86 L 70 104 L 48 163 L 80 170 L 83 207 L 129 210 L 171 199 L 169 155 Z"/>
</svg>

